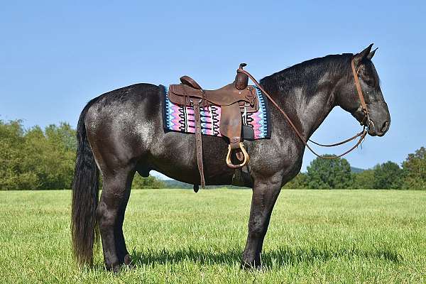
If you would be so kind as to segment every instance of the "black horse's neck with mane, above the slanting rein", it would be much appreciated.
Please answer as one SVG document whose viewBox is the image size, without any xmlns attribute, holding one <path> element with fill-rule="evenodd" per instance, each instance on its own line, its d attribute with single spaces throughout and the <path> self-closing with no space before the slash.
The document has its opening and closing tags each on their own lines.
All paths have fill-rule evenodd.
<svg viewBox="0 0 426 284">
<path fill-rule="evenodd" d="M 283 108 L 307 140 L 336 106 L 335 87 L 344 75 L 319 68 L 312 74 L 310 66 L 294 72 L 275 73 L 261 80 L 273 99 Z M 291 67 L 288 71 L 291 71 Z M 284 119 L 278 114 L 280 120 Z"/>
</svg>

